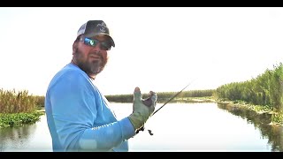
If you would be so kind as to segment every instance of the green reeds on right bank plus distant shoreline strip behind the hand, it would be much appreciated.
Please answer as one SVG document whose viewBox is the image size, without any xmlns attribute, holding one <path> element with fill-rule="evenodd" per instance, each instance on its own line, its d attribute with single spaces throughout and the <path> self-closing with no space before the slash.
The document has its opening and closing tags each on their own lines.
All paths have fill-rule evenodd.
<svg viewBox="0 0 283 159">
<path fill-rule="evenodd" d="M 283 125 L 283 64 L 273 67 L 256 79 L 228 83 L 216 90 L 184 91 L 172 102 L 231 102 L 241 109 L 271 113 L 272 123 Z M 157 92 L 157 101 L 166 102 L 176 93 Z M 133 95 L 106 95 L 106 98 L 110 102 L 133 102 Z"/>
</svg>

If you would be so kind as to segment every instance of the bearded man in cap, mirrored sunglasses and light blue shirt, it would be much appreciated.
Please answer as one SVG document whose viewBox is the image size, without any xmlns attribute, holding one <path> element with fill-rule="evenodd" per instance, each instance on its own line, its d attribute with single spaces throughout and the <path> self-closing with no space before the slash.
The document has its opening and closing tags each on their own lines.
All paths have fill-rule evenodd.
<svg viewBox="0 0 283 159">
<path fill-rule="evenodd" d="M 45 96 L 53 151 L 128 151 L 134 137 L 153 113 L 157 95 L 142 99 L 134 89 L 133 113 L 118 120 L 94 80 L 115 47 L 103 20 L 83 24 L 73 42 L 73 59 L 51 79 Z"/>
</svg>

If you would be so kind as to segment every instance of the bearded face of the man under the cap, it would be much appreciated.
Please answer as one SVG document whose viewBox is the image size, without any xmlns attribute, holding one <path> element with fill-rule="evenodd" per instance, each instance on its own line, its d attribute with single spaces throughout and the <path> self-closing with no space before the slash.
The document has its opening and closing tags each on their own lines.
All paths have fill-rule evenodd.
<svg viewBox="0 0 283 159">
<path fill-rule="evenodd" d="M 89 46 L 84 43 L 84 36 L 81 36 L 80 42 L 74 46 L 73 61 L 81 70 L 86 72 L 88 76 L 96 76 L 103 71 L 105 64 L 107 64 L 107 50 L 101 49 L 101 42 L 108 40 L 105 35 L 89 38 L 91 40 L 98 40 L 96 46 Z"/>
</svg>

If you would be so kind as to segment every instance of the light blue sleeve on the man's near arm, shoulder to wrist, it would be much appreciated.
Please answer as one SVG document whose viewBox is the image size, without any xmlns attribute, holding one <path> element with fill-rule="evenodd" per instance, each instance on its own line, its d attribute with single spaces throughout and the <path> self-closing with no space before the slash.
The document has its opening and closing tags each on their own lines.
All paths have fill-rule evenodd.
<svg viewBox="0 0 283 159">
<path fill-rule="evenodd" d="M 81 74 L 66 73 L 49 95 L 58 140 L 66 151 L 110 151 L 135 134 L 127 117 L 93 127 L 98 116 L 96 99 Z"/>
</svg>

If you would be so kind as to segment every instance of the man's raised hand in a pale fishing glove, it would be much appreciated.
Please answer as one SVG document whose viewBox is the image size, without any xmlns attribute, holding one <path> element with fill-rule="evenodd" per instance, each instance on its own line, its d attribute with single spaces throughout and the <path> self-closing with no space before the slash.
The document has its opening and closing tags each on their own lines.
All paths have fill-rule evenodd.
<svg viewBox="0 0 283 159">
<path fill-rule="evenodd" d="M 149 119 L 157 104 L 157 94 L 150 91 L 149 98 L 142 99 L 142 94 L 139 87 L 134 89 L 133 113 L 128 117 L 134 125 L 134 130 L 137 131 Z"/>
</svg>

